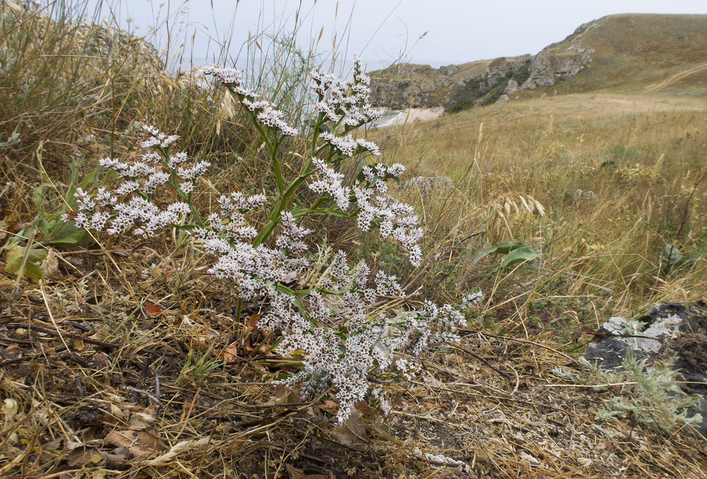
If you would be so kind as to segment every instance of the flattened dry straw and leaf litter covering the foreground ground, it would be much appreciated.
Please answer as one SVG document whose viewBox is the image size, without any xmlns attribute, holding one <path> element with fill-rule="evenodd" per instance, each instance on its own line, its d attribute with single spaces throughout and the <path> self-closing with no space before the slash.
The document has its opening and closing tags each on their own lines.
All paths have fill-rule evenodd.
<svg viewBox="0 0 707 479">
<path fill-rule="evenodd" d="M 271 385 L 296 366 L 222 313 L 226 291 L 198 276 L 170 289 L 165 258 L 149 250 L 113 256 L 115 265 L 86 253 L 74 261 L 108 279 L 93 282 L 88 298 L 69 278 L 19 296 L 0 290 L 3 477 L 699 478 L 707 470 L 703 443 L 689 435 L 598 423 L 593 411 L 618 387 L 559 380 L 551 370 L 574 361 L 542 336 L 463 332 L 459 346 L 423 360 L 416 380 L 380 382 L 390 416 L 360 404 L 336 428 L 326 393 L 303 401 Z M 174 304 L 175 293 L 185 296 L 180 307 L 148 305 Z"/>
</svg>

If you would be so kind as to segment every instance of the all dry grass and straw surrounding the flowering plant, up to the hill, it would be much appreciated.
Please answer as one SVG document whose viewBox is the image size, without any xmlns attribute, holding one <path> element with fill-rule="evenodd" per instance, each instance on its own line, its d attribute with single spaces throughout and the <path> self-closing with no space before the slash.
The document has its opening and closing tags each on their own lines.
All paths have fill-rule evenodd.
<svg viewBox="0 0 707 479">
<path fill-rule="evenodd" d="M 47 43 L 33 43 L 43 49 L 81 47 L 66 30 L 33 36 L 43 31 L 28 28 L 39 19 L 21 20 L 24 30 L 4 31 L 4 40 L 24 32 L 43 38 Z M 0 109 L 0 142 L 18 124 L 22 133 L 22 143 L 2 152 L 2 245 L 19 241 L 35 222 L 35 187 L 51 180 L 47 212 L 61 211 L 71 157 L 83 159 L 83 173 L 102 155 L 131 154 L 132 138 L 119 132 L 147 112 L 172 122 L 160 126 L 179 133 L 190 154 L 216 162 L 214 191 L 271 187 L 258 174 L 267 168 L 260 145 L 227 104 L 215 119 L 213 92 L 194 88 L 188 77 L 151 77 L 153 64 L 138 71 L 120 56 L 97 55 L 98 63 L 80 56 L 69 68 L 65 56 L 47 63 L 37 51 L 28 49 L 16 72 L 35 75 L 33 95 Z M 78 88 L 78 103 L 47 102 L 59 76 L 69 82 L 62 87 Z M 3 99 L 25 95 L 11 82 L 2 88 Z M 387 150 L 387 159 L 454 181 L 450 193 L 398 192 L 418 202 L 426 224 L 423 267 L 406 269 L 399 253 L 343 224 L 322 228 L 334 243 L 358 241 L 372 267 L 407 278 L 411 304 L 483 286 L 486 316 L 479 329 L 462 332 L 460 345 L 423 358 L 418 379 L 376 377 L 392 413 L 383 417 L 361 404 L 343 428 L 334 426 L 330 392 L 303 401 L 272 385 L 301 363 L 273 351 L 275 339 L 254 320 L 234 320 L 228 284 L 206 276 L 208 262 L 176 234 L 121 243 L 99 236 L 71 248 L 33 237 L 55 261 L 47 260 L 40 283 L 18 282 L 0 258 L 0 476 L 705 475 L 704 442 L 686 431 L 597 423 L 594 411 L 619 389 L 569 386 L 551 374 L 575 364 L 582 344 L 569 338 L 581 323 L 596 326 L 612 311 L 636 313 L 706 290 L 703 259 L 667 277 L 657 264 L 664 241 L 685 254 L 705 248 L 707 185 L 692 193 L 707 141 L 705 106 L 672 97 L 568 95 L 388 131 L 387 141 L 400 146 Z M 94 139 L 81 143 L 89 133 Z M 296 143 L 291 150 L 300 151 Z M 49 159 L 54 167 L 42 171 Z M 299 161 L 292 154 L 285 164 Z M 614 163 L 602 167 L 604 161 Z M 594 191 L 597 200 L 570 198 L 576 188 Z M 199 198 L 199 207 L 209 201 Z M 542 221 L 536 201 L 546 212 Z M 498 272 L 490 256 L 474 263 L 486 245 L 508 239 L 542 248 L 542 257 Z"/>
</svg>

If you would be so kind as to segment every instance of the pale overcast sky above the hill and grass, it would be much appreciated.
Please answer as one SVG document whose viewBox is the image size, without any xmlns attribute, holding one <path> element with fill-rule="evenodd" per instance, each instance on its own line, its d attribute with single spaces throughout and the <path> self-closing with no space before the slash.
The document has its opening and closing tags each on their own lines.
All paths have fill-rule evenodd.
<svg viewBox="0 0 707 479">
<path fill-rule="evenodd" d="M 369 68 L 403 51 L 414 63 L 433 66 L 535 54 L 580 24 L 612 13 L 707 13 L 707 0 L 122 0 L 103 1 L 103 13 L 108 4 L 121 23 L 132 18 L 138 35 L 147 35 L 148 25 L 164 20 L 169 9 L 170 28 L 187 32 L 182 40 L 191 42 L 194 35 L 195 60 L 205 59 L 214 40 L 226 36 L 235 55 L 248 32 L 291 30 L 299 9 L 301 46 L 316 40 L 323 27 L 319 49 L 330 49 L 337 32 L 342 53 L 358 54 Z"/>
</svg>

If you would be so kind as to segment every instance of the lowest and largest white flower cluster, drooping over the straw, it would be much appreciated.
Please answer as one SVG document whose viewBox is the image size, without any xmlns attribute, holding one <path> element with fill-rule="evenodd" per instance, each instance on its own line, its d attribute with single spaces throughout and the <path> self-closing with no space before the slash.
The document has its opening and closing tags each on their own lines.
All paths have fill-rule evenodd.
<svg viewBox="0 0 707 479">
<path fill-rule="evenodd" d="M 336 296 L 311 293 L 308 317 L 293 312 L 296 307 L 292 296 L 271 289 L 271 308 L 259 320 L 260 327 L 284 333 L 279 351 L 303 357 L 304 369 L 284 380 L 285 384 L 302 383 L 305 395 L 336 387 L 339 424 L 368 393 L 378 399 L 383 411 L 390 409 L 385 395 L 370 386 L 370 372 L 397 370 L 411 378 L 416 364 L 399 357 L 399 353 L 411 348 L 418 355 L 432 344 L 457 341 L 455 329 L 464 325 L 459 310 L 429 302 L 419 311 L 402 313 L 402 322 L 401 316 L 369 317 L 375 297 L 399 295 L 400 286 L 395 277 L 379 271 L 375 287 L 362 291 L 370 270 L 348 264 L 345 253 L 339 251 L 334 256 L 320 284 L 333 289 Z"/>
</svg>

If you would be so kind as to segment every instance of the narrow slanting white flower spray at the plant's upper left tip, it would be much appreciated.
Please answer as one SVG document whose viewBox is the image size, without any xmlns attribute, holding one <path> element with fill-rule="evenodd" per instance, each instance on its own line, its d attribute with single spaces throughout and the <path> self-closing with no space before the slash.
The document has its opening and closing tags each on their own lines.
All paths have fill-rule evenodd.
<svg viewBox="0 0 707 479">
<path fill-rule="evenodd" d="M 265 99 L 256 100 L 259 96 L 250 88 L 240 84 L 240 73 L 235 68 L 220 68 L 217 66 L 204 66 L 201 68 L 204 75 L 214 75 L 218 80 L 226 85 L 240 100 L 247 111 L 255 113 L 258 123 L 268 126 L 274 130 L 279 130 L 283 135 L 295 136 L 299 132 L 284 121 L 284 112 L 276 109 Z"/>
</svg>

